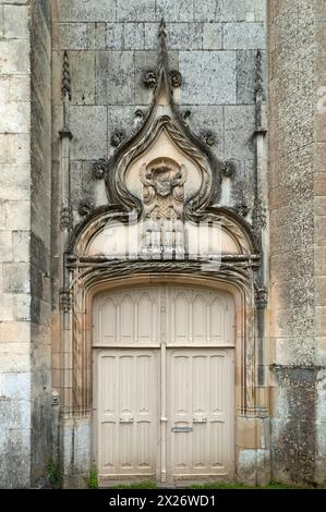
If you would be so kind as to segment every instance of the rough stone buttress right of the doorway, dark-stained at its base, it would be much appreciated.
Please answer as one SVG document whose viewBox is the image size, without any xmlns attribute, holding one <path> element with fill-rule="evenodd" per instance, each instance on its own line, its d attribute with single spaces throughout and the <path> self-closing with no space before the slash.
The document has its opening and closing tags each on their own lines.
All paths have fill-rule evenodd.
<svg viewBox="0 0 326 512">
<path fill-rule="evenodd" d="M 268 2 L 271 467 L 276 479 L 318 483 L 326 475 L 323 35 L 325 42 L 324 1 Z"/>
</svg>

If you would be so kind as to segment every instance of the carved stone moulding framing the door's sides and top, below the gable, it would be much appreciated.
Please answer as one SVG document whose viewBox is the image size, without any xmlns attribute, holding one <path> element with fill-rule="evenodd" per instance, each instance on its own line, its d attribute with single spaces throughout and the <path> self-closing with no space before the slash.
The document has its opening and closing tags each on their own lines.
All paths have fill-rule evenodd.
<svg viewBox="0 0 326 512">
<path fill-rule="evenodd" d="M 167 264 L 167 265 L 165 265 Z M 137 267 L 137 268 L 136 268 Z M 171 268 L 161 263 L 160 270 L 148 275 L 140 263 L 134 268 L 84 268 L 73 283 L 70 329 L 67 341 L 72 350 L 73 368 L 71 389 L 67 390 L 64 411 L 76 417 L 92 415 L 92 309 L 96 294 L 110 290 L 158 283 L 179 283 L 201 287 L 204 290 L 224 291 L 232 295 L 236 304 L 236 406 L 238 415 L 255 415 L 255 307 L 251 277 L 243 269 L 234 271 L 225 267 L 218 276 L 201 272 L 196 263 Z M 69 371 L 67 368 L 65 371 Z M 261 410 L 261 405 L 259 410 Z"/>
</svg>

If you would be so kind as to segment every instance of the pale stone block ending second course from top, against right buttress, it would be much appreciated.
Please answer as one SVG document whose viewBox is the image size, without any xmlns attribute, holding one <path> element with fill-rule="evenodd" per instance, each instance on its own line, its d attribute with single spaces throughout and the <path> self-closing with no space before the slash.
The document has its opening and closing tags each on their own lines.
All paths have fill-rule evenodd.
<svg viewBox="0 0 326 512">
<path fill-rule="evenodd" d="M 225 23 L 224 48 L 232 50 L 265 49 L 264 23 Z"/>
</svg>

